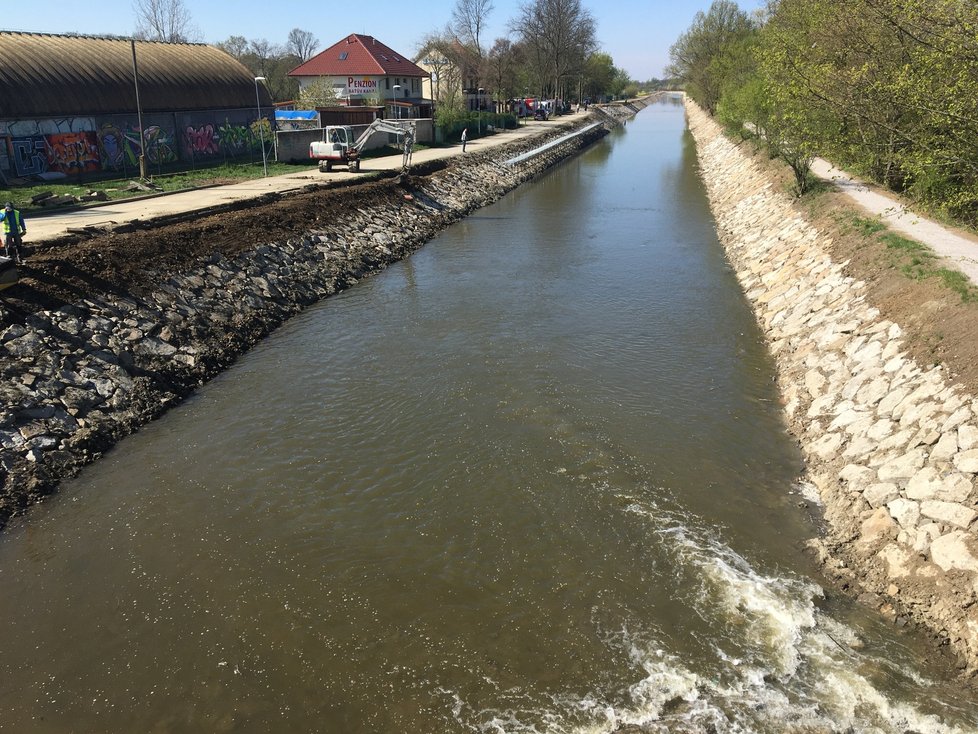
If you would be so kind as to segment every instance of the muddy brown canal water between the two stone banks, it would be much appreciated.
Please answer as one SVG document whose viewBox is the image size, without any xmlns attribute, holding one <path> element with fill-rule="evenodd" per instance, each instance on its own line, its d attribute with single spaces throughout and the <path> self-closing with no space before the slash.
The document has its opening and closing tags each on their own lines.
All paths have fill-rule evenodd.
<svg viewBox="0 0 978 734">
<path fill-rule="evenodd" d="M 773 376 L 665 100 L 13 523 L 0 730 L 974 731 L 820 587 Z"/>
</svg>

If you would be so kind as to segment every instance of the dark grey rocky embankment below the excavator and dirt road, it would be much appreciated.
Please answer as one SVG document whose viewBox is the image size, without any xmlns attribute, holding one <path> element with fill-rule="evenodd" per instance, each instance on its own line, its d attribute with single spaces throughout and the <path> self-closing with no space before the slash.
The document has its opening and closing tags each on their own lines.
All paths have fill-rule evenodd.
<svg viewBox="0 0 978 734">
<path fill-rule="evenodd" d="M 356 205 L 354 192 L 339 221 L 233 256 L 213 252 L 149 293 L 93 290 L 9 326 L 0 333 L 0 526 L 285 319 L 406 257 L 641 106 L 594 111 L 574 127 L 603 125 L 517 165 L 504 161 L 567 134 L 568 126 L 391 182 L 372 193 L 369 208 Z"/>
</svg>

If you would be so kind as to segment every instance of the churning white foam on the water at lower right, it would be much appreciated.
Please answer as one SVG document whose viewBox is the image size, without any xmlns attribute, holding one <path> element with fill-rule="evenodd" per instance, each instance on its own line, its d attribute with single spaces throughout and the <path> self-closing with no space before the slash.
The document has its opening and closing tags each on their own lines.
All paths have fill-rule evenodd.
<svg viewBox="0 0 978 734">
<path fill-rule="evenodd" d="M 691 528 L 659 509 L 631 504 L 647 517 L 664 550 L 683 564 L 699 588 L 698 614 L 726 627 L 714 641 L 715 664 L 696 670 L 669 651 L 668 635 L 627 628 L 608 638 L 645 671 L 617 705 L 591 695 L 553 700 L 547 711 L 492 713 L 478 730 L 496 734 L 610 734 L 622 727 L 643 732 L 717 734 L 967 734 L 974 726 L 942 721 L 911 701 L 892 700 L 871 680 L 898 674 L 929 698 L 927 679 L 871 652 L 854 649 L 859 635 L 823 614 L 822 589 L 790 576 L 766 576 L 709 531 Z M 704 611 L 706 610 L 706 611 Z M 730 631 L 739 631 L 737 639 Z M 652 639 L 650 639 L 650 637 Z M 736 650 L 723 649 L 724 647 Z M 720 671 L 720 672 L 717 672 Z M 483 715 L 489 712 L 482 712 Z M 528 723 L 534 721 L 535 723 Z"/>
</svg>

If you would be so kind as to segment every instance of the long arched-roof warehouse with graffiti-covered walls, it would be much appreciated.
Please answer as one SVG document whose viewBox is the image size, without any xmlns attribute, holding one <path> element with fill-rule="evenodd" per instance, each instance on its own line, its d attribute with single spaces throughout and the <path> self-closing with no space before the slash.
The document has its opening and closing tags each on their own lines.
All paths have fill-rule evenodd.
<svg viewBox="0 0 978 734">
<path fill-rule="evenodd" d="M 272 116 L 243 64 L 198 43 L 0 31 L 0 90 L 0 183 L 138 175 L 143 152 L 150 173 L 261 160 L 253 124 Z"/>
</svg>

